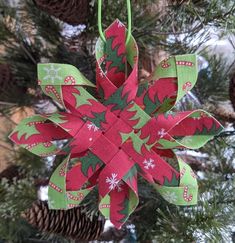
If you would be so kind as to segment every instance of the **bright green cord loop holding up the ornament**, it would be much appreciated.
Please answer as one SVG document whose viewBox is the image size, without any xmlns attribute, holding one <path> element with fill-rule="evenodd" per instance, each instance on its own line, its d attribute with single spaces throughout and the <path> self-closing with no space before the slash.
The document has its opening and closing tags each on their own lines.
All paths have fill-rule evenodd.
<svg viewBox="0 0 235 243">
<path fill-rule="evenodd" d="M 128 21 L 128 27 L 127 27 L 127 37 L 126 37 L 126 45 L 130 40 L 131 37 L 131 2 L 130 0 L 126 0 L 127 4 L 127 21 Z M 106 42 L 105 35 L 102 29 L 102 0 L 98 0 L 98 29 L 101 39 Z"/>
</svg>

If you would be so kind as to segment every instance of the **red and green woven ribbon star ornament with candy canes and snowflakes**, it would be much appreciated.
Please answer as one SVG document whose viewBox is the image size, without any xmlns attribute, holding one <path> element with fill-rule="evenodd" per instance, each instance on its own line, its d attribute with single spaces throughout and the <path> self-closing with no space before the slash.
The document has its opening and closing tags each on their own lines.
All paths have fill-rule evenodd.
<svg viewBox="0 0 235 243">
<path fill-rule="evenodd" d="M 10 138 L 39 156 L 66 155 L 49 182 L 49 207 L 79 205 L 98 187 L 99 210 L 120 228 L 138 205 L 138 177 L 175 205 L 194 205 L 195 174 L 175 149 L 198 149 L 222 126 L 203 110 L 173 112 L 195 85 L 195 55 L 170 57 L 138 83 L 138 49 L 116 20 L 96 44 L 96 87 L 74 66 L 39 64 L 43 92 L 65 112 L 23 120 Z M 56 141 L 64 141 L 64 147 Z M 60 143 L 61 144 L 61 143 Z"/>
</svg>

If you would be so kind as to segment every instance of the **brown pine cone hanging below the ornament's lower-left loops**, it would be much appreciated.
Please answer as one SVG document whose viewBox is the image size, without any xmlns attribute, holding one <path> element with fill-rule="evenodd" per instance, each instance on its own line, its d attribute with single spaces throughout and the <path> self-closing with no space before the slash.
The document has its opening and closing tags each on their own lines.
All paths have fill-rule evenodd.
<svg viewBox="0 0 235 243">
<path fill-rule="evenodd" d="M 104 217 L 86 212 L 85 206 L 68 210 L 51 210 L 47 202 L 35 201 L 24 217 L 41 231 L 60 234 L 76 240 L 95 240 L 104 229 Z"/>
</svg>

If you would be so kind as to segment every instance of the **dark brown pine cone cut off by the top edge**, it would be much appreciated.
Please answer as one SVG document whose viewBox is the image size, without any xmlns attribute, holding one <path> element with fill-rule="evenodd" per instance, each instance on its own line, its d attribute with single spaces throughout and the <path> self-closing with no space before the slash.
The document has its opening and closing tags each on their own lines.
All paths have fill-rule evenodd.
<svg viewBox="0 0 235 243">
<path fill-rule="evenodd" d="M 71 24 L 86 23 L 89 1 L 87 0 L 34 0 L 43 11 Z"/>
</svg>

